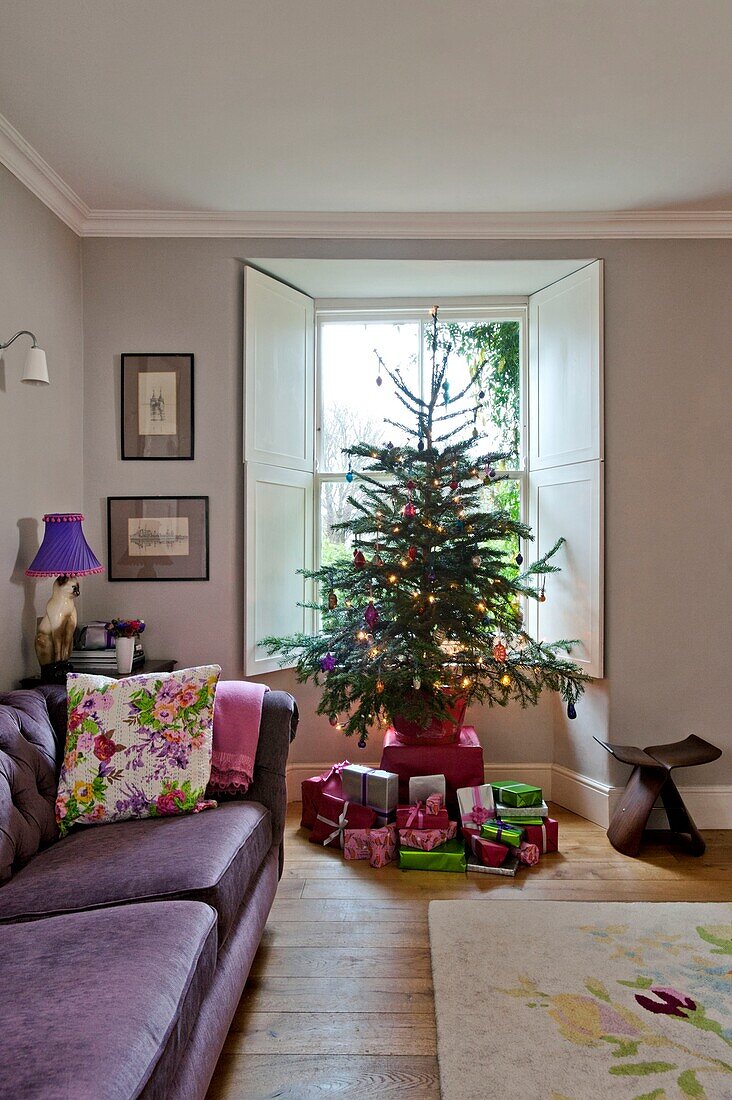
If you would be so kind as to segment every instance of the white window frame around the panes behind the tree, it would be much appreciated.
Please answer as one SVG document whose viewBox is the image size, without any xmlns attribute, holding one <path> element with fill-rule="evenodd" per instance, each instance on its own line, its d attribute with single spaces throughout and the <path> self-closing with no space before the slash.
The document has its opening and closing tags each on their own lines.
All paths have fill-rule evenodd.
<svg viewBox="0 0 732 1100">
<path fill-rule="evenodd" d="M 315 301 L 315 474 L 313 479 L 313 516 L 315 568 L 319 569 L 323 544 L 323 486 L 327 483 L 340 482 L 347 470 L 321 469 L 323 454 L 323 340 L 320 330 L 324 324 L 332 323 L 417 323 L 423 330 L 419 340 L 419 374 L 420 387 L 424 388 L 424 328 L 430 323 L 429 309 L 433 301 L 426 299 L 340 299 Z M 515 468 L 503 471 L 507 475 L 503 480 L 517 481 L 521 496 L 521 521 L 528 519 L 528 297 L 494 297 L 494 298 L 459 298 L 443 300 L 439 316 L 450 321 L 517 321 L 518 322 L 518 420 L 520 420 L 520 457 Z M 372 474 L 380 481 L 387 481 L 385 474 Z M 526 557 L 526 548 L 522 547 Z M 319 628 L 319 616 L 316 629 Z"/>
</svg>

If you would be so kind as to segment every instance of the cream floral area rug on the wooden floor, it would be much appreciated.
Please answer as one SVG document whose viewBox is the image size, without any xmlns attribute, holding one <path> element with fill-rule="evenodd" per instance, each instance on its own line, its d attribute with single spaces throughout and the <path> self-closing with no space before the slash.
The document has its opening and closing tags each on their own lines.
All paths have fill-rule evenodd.
<svg viewBox="0 0 732 1100">
<path fill-rule="evenodd" d="M 434 901 L 443 1100 L 732 1098 L 732 905 Z"/>
</svg>

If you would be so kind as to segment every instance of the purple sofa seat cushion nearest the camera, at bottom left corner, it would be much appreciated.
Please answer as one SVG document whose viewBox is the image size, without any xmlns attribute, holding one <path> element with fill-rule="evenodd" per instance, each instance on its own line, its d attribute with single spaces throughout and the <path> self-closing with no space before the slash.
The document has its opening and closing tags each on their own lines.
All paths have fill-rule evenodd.
<svg viewBox="0 0 732 1100">
<path fill-rule="evenodd" d="M 3 1096 L 162 1100 L 211 986 L 216 917 L 165 902 L 4 925 L 0 959 Z"/>
</svg>

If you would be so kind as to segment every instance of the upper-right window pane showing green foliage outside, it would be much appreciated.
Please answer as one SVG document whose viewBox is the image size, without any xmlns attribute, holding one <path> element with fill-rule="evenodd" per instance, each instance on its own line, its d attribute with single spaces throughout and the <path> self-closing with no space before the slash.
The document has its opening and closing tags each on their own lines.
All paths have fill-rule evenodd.
<svg viewBox="0 0 732 1100">
<path fill-rule="evenodd" d="M 429 384 L 431 370 L 431 331 L 425 326 L 425 371 Z M 446 381 L 451 398 L 465 389 L 471 376 L 480 369 L 480 383 L 471 386 L 465 399 L 449 410 L 465 407 L 468 425 L 460 436 L 465 438 L 473 428 L 473 413 L 478 405 L 476 427 L 481 433 L 481 451 L 511 451 L 512 457 L 499 463 L 501 469 L 518 465 L 521 447 L 521 361 L 518 352 L 518 321 L 446 321 L 439 326 L 440 350 L 449 342 L 451 352 Z M 484 397 L 478 398 L 483 392 Z M 461 417 L 446 420 L 443 435 L 451 426 L 462 424 Z M 439 428 L 439 426 L 438 426 Z"/>
</svg>

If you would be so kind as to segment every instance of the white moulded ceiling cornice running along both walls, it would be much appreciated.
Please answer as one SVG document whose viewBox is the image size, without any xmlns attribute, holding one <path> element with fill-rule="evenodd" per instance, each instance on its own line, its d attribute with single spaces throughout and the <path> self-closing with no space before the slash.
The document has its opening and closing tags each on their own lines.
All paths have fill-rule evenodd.
<svg viewBox="0 0 732 1100">
<path fill-rule="evenodd" d="M 0 163 L 79 237 L 452 241 L 732 238 L 732 210 L 578 213 L 91 210 L 2 114 Z"/>
</svg>

